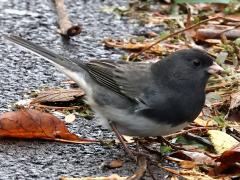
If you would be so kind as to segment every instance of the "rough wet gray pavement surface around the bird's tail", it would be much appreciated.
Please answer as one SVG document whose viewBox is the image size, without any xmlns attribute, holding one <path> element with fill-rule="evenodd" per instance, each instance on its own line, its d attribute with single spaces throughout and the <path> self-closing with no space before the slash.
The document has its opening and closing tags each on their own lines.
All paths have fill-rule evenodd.
<svg viewBox="0 0 240 180">
<path fill-rule="evenodd" d="M 0 35 L 21 35 L 55 52 L 79 60 L 119 59 L 124 52 L 106 50 L 101 41 L 106 37 L 127 37 L 137 24 L 126 18 L 101 11 L 103 6 L 127 5 L 125 1 L 66 0 L 69 15 L 83 32 L 63 42 L 57 33 L 57 16 L 50 0 L 0 0 Z M 51 64 L 14 45 L 7 45 L 0 37 L 0 112 L 10 111 L 9 105 L 30 90 L 57 87 L 67 79 Z M 70 126 L 72 132 L 83 137 L 114 139 L 96 121 L 78 118 Z M 102 163 L 124 160 L 118 169 L 102 168 Z M 65 177 L 109 176 L 117 173 L 131 175 L 136 165 L 121 146 L 65 144 L 42 140 L 0 139 L 0 179 L 59 179 Z M 157 179 L 166 175 L 157 171 Z M 149 179 L 149 178 L 146 178 Z"/>
</svg>

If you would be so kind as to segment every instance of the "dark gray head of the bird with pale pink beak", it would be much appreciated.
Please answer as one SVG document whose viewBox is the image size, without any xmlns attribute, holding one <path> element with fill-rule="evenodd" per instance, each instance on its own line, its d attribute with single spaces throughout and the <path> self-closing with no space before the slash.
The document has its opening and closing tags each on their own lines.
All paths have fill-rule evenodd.
<svg viewBox="0 0 240 180">
<path fill-rule="evenodd" d="M 152 71 L 159 74 L 158 77 L 167 78 L 170 80 L 168 82 L 176 86 L 196 86 L 196 88 L 204 88 L 210 74 L 222 70 L 214 63 L 211 56 L 198 49 L 176 51 L 155 65 Z M 160 72 L 159 69 L 164 69 L 164 71 Z M 211 71 L 212 69 L 215 71 Z"/>
</svg>

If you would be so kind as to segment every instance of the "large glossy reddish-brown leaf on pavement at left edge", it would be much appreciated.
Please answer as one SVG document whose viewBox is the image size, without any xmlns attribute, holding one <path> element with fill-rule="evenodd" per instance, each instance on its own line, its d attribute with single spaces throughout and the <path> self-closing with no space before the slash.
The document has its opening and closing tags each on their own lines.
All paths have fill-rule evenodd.
<svg viewBox="0 0 240 180">
<path fill-rule="evenodd" d="M 63 121 L 49 113 L 25 109 L 6 112 L 0 116 L 0 137 L 94 142 L 70 133 Z"/>
</svg>

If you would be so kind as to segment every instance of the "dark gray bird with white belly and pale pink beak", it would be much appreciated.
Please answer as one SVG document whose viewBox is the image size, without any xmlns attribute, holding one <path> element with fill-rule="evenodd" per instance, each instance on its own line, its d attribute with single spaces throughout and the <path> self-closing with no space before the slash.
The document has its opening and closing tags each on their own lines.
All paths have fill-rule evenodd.
<svg viewBox="0 0 240 180">
<path fill-rule="evenodd" d="M 162 136 L 200 113 L 210 74 L 223 69 L 207 53 L 180 50 L 156 63 L 67 59 L 20 37 L 6 37 L 51 62 L 86 92 L 104 126 L 121 134 Z"/>
</svg>

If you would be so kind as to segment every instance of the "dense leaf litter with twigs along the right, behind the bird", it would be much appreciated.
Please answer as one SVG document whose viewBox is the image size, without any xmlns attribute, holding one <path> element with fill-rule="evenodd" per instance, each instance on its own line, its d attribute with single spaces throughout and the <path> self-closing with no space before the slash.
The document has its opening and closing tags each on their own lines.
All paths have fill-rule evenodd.
<svg viewBox="0 0 240 180">
<path fill-rule="evenodd" d="M 143 57 L 164 57 L 173 51 L 194 47 L 207 50 L 225 70 L 224 74 L 209 80 L 206 105 L 199 117 L 182 131 L 165 136 L 170 142 L 184 147 L 184 150 L 163 150 L 162 147 L 165 146 L 159 148 L 156 141 L 152 143 L 152 140 L 144 141 L 143 144 L 149 147 L 143 148 L 151 154 L 164 153 L 163 158 L 175 162 L 178 168 L 166 167 L 162 162 L 159 167 L 186 179 L 239 177 L 239 6 L 236 6 L 237 3 L 234 6 L 232 3 L 196 3 L 178 6 L 175 12 L 171 12 L 173 4 L 164 4 L 163 10 L 156 8 L 159 2 L 134 2 L 134 5 L 129 6 L 128 12 L 121 15 L 148 26 L 162 25 L 165 30 L 158 33 L 158 36 L 134 35 L 127 39 L 103 40 L 108 48 L 120 48 L 131 53 L 122 59 L 147 61 Z M 153 3 L 156 4 L 155 8 Z M 194 134 L 191 135 L 190 132 Z M 232 161 L 227 163 L 227 158 Z"/>
</svg>

